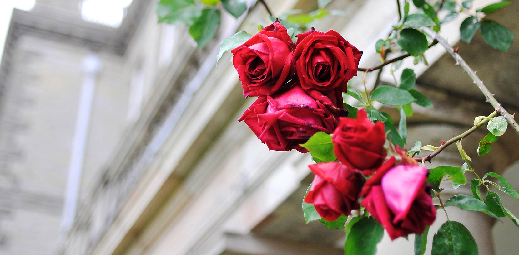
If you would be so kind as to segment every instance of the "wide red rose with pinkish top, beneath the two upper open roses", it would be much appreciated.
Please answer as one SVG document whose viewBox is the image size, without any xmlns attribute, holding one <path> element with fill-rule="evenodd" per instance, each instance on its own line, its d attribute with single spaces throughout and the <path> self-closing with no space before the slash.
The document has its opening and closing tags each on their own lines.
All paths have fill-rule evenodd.
<svg viewBox="0 0 519 255">
<path fill-rule="evenodd" d="M 288 91 L 258 97 L 239 121 L 245 121 L 271 150 L 306 153 L 299 144 L 318 131 L 331 133 L 337 126 L 338 118 L 332 112 L 339 110 L 334 107 L 337 103 L 342 106 L 341 95 L 304 91 L 296 84 Z"/>
</svg>

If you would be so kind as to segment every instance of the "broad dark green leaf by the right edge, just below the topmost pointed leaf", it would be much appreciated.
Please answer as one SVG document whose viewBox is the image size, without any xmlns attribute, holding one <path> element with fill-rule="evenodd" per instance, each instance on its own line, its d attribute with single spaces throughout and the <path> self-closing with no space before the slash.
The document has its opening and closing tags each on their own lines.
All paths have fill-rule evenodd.
<svg viewBox="0 0 519 255">
<path fill-rule="evenodd" d="M 483 20 L 481 34 L 492 48 L 502 51 L 508 51 L 514 41 L 512 31 L 493 20 Z"/>
</svg>

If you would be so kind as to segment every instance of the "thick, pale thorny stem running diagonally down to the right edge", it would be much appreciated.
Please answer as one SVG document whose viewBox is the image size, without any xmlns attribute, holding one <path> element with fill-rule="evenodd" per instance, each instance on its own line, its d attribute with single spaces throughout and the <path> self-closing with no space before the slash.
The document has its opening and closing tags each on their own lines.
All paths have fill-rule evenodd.
<svg viewBox="0 0 519 255">
<path fill-rule="evenodd" d="M 499 113 L 499 115 L 503 116 L 507 120 L 508 124 L 510 124 L 510 126 L 512 126 L 512 128 L 515 130 L 515 132 L 519 134 L 519 125 L 517 124 L 517 122 L 515 122 L 514 116 L 508 113 L 506 110 L 504 110 L 501 104 L 494 97 L 494 94 L 490 93 L 485 84 L 483 84 L 483 81 L 479 77 L 477 77 L 476 72 L 472 70 L 472 68 L 470 68 L 470 66 L 465 62 L 465 60 L 463 60 L 463 58 L 457 52 L 454 52 L 454 49 L 450 47 L 447 40 L 445 40 L 443 37 L 441 37 L 438 33 L 434 32 L 429 27 L 423 27 L 421 28 L 421 30 L 422 32 L 428 34 L 430 37 L 432 37 L 435 40 L 438 40 L 440 44 L 442 44 L 443 48 L 445 48 L 445 50 L 450 55 L 452 55 L 454 59 L 456 59 L 456 64 L 460 65 L 463 68 L 463 70 L 467 72 L 469 77 L 474 81 L 474 84 L 476 84 L 477 88 L 479 88 L 483 95 L 485 95 L 487 101 L 494 107 L 496 112 Z"/>
</svg>

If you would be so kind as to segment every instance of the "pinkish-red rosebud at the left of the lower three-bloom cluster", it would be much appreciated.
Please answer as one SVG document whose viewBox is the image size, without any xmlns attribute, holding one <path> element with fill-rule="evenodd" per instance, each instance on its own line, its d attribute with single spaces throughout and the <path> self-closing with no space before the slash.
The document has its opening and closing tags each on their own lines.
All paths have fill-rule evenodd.
<svg viewBox="0 0 519 255">
<path fill-rule="evenodd" d="M 316 177 L 305 202 L 313 204 L 325 220 L 336 220 L 340 215 L 351 215 L 358 210 L 359 192 L 363 179 L 353 169 L 338 162 L 317 163 L 308 166 Z"/>
</svg>

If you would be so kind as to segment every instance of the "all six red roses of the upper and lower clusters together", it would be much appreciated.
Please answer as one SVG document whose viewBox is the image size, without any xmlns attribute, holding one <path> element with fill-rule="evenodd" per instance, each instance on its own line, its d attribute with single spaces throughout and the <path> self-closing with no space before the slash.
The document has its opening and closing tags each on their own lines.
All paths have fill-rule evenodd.
<svg viewBox="0 0 519 255">
<path fill-rule="evenodd" d="M 392 239 L 432 224 L 428 170 L 400 148 L 399 164 L 386 160 L 384 124 L 372 123 L 364 110 L 357 119 L 344 118 L 342 92 L 356 76 L 361 51 L 332 30 L 312 28 L 293 43 L 276 21 L 231 52 L 243 95 L 258 96 L 240 121 L 269 149 L 306 153 L 300 144 L 318 131 L 333 132 L 339 162 L 309 166 L 316 176 L 305 202 L 321 217 L 335 220 L 362 205 Z"/>
</svg>

